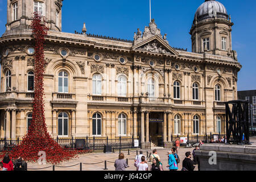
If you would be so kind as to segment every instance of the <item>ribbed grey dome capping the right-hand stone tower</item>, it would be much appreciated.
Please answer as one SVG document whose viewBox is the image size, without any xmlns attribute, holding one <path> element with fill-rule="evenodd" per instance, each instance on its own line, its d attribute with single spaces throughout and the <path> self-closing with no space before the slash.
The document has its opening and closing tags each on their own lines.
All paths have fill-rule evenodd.
<svg viewBox="0 0 256 182">
<path fill-rule="evenodd" d="M 200 21 L 207 18 L 213 18 L 213 11 L 211 9 L 216 11 L 217 18 L 229 18 L 226 8 L 222 3 L 215 0 L 205 0 L 205 2 L 196 10 L 195 19 L 197 18 L 197 20 Z"/>
</svg>

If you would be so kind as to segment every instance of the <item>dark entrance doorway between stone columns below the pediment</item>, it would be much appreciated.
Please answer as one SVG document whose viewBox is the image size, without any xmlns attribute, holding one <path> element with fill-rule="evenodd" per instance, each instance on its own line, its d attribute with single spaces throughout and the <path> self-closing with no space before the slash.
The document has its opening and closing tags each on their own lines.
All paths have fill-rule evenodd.
<svg viewBox="0 0 256 182">
<path fill-rule="evenodd" d="M 150 126 L 150 139 L 155 146 L 163 146 L 163 113 L 150 112 L 149 126 Z"/>
</svg>

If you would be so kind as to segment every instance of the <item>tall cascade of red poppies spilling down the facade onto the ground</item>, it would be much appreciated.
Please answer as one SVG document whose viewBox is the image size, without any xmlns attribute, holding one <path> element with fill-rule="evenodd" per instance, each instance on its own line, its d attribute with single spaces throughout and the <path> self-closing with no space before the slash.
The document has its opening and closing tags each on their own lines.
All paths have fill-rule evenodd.
<svg viewBox="0 0 256 182">
<path fill-rule="evenodd" d="M 62 148 L 47 132 L 46 118 L 44 115 L 44 42 L 48 32 L 45 20 L 38 13 L 34 13 L 31 28 L 35 40 L 35 79 L 34 79 L 34 110 L 31 126 L 24 135 L 22 142 L 10 152 L 15 159 L 22 156 L 24 160 L 36 162 L 38 152 L 46 152 L 46 161 L 58 164 L 65 160 L 76 158 L 78 151 Z"/>
</svg>

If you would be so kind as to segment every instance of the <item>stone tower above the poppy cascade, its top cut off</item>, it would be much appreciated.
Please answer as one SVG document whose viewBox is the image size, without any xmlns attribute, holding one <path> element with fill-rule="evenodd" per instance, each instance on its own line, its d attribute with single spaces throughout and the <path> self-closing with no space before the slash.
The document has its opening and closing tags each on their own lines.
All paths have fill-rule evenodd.
<svg viewBox="0 0 256 182">
<path fill-rule="evenodd" d="M 28 29 L 34 11 L 42 14 L 49 30 L 61 31 L 63 0 L 7 0 L 6 32 Z"/>
</svg>

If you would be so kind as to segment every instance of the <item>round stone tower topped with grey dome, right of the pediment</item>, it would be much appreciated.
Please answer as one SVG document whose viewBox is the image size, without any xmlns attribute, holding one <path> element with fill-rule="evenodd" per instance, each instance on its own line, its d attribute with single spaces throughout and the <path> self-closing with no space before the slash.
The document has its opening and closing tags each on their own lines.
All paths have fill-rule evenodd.
<svg viewBox="0 0 256 182">
<path fill-rule="evenodd" d="M 222 3 L 205 0 L 196 10 L 191 27 L 192 52 L 230 56 L 233 23 Z"/>
</svg>

